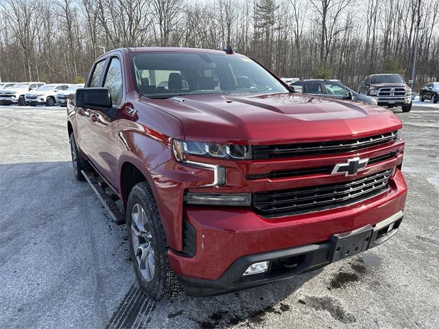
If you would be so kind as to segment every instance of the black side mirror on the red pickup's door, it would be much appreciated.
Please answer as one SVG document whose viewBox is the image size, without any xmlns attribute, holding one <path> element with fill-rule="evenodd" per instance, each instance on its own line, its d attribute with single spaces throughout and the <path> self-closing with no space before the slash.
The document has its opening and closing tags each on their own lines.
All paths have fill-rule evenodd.
<svg viewBox="0 0 439 329">
<path fill-rule="evenodd" d="M 108 88 L 78 88 L 75 104 L 86 109 L 108 111 L 112 107 L 110 91 Z"/>
</svg>

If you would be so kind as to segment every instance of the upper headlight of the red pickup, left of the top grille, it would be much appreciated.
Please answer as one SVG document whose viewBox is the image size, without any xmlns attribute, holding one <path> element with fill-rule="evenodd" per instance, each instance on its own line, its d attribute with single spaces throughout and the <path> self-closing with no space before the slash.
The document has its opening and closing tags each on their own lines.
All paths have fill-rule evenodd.
<svg viewBox="0 0 439 329">
<path fill-rule="evenodd" d="M 185 161 L 186 155 L 222 159 L 252 159 L 252 148 L 248 145 L 203 143 L 201 141 L 174 139 L 173 149 L 178 161 Z"/>
</svg>

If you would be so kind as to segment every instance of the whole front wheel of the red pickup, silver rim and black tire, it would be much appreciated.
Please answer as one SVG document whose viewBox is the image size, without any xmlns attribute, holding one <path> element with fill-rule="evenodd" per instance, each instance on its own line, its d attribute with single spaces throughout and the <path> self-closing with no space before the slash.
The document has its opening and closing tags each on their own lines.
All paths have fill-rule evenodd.
<svg viewBox="0 0 439 329">
<path fill-rule="evenodd" d="M 182 289 L 169 265 L 165 231 L 147 182 L 132 188 L 126 209 L 131 260 L 143 291 L 156 301 L 180 295 Z"/>
</svg>

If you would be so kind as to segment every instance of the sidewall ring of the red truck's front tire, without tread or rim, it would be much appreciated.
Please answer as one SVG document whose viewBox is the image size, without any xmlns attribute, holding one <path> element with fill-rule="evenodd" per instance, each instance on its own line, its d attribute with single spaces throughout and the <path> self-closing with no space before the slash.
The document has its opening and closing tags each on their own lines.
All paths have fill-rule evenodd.
<svg viewBox="0 0 439 329">
<path fill-rule="evenodd" d="M 139 186 L 140 185 L 140 186 Z M 159 231 L 158 220 L 161 220 L 158 216 L 158 211 L 156 209 L 156 205 L 154 200 L 152 199 L 151 193 L 148 193 L 145 188 L 146 183 L 139 183 L 130 192 L 130 196 L 128 198 L 127 209 L 126 209 L 126 225 L 127 225 L 127 233 L 128 233 L 128 245 L 130 247 L 130 256 L 132 260 L 132 264 L 134 267 L 134 272 L 136 274 L 137 280 L 139 284 L 142 286 L 143 291 L 147 293 L 151 298 L 159 300 L 162 298 L 163 292 L 161 291 L 161 286 L 163 284 L 163 280 L 165 280 L 164 275 L 166 275 L 166 266 L 167 266 L 167 247 L 163 243 L 163 232 Z M 132 243 L 131 236 L 131 214 L 132 207 L 139 203 L 143 207 L 145 214 L 149 220 L 151 234 L 154 239 L 154 277 L 150 282 L 147 282 L 141 271 L 139 269 L 134 249 Z"/>
</svg>

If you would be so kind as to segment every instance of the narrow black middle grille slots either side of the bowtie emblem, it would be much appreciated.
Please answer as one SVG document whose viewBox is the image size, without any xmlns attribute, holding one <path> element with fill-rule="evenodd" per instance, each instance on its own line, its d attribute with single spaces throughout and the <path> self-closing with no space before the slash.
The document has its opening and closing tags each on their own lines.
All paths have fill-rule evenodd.
<svg viewBox="0 0 439 329">
<path fill-rule="evenodd" d="M 368 166 L 379 163 L 382 161 L 386 161 L 396 157 L 397 152 L 390 152 L 386 155 L 380 155 L 379 157 L 370 158 L 368 161 Z M 285 177 L 297 177 L 297 176 L 307 176 L 310 174 L 329 174 L 331 170 L 334 168 L 332 166 L 324 166 L 324 167 L 314 167 L 314 168 L 300 168 L 300 169 L 289 169 L 289 170 L 273 170 L 268 174 L 248 174 L 246 175 L 246 179 L 278 179 Z"/>
</svg>

